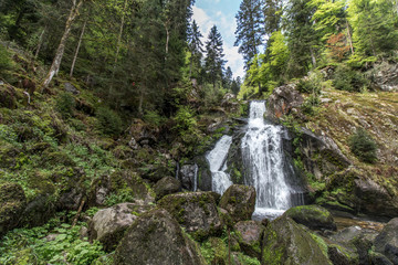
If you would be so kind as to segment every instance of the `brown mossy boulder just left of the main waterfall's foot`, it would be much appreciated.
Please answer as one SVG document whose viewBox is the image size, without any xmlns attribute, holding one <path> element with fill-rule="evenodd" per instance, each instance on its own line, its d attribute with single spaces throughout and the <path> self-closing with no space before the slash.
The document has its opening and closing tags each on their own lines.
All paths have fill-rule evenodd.
<svg viewBox="0 0 398 265">
<path fill-rule="evenodd" d="M 229 212 L 233 222 L 250 220 L 255 208 L 255 189 L 233 184 L 222 194 L 219 206 Z"/>
</svg>

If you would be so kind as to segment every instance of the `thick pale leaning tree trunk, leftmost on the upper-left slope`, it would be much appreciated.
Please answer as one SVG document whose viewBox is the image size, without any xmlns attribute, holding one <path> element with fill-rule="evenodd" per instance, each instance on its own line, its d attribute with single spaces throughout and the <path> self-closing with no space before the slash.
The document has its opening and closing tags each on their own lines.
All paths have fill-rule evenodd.
<svg viewBox="0 0 398 265">
<path fill-rule="evenodd" d="M 43 82 L 43 89 L 49 86 L 49 84 L 52 81 L 52 78 L 54 77 L 54 75 L 56 75 L 57 72 L 60 71 L 62 56 L 65 51 L 66 41 L 71 33 L 73 21 L 76 19 L 76 17 L 78 14 L 78 10 L 83 4 L 83 1 L 84 0 L 80 0 L 78 3 L 76 3 L 76 0 L 73 0 L 73 6 L 71 8 L 71 12 L 70 12 L 70 15 L 69 15 L 69 18 L 66 20 L 66 24 L 65 24 L 65 31 L 62 35 L 60 45 L 56 49 L 54 61 L 50 67 L 50 71 L 49 71 L 44 82 Z"/>
</svg>

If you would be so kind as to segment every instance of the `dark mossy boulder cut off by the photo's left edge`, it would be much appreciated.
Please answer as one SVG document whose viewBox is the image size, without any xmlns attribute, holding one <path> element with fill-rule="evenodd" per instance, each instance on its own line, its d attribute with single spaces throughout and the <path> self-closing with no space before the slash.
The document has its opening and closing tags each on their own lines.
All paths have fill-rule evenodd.
<svg viewBox="0 0 398 265">
<path fill-rule="evenodd" d="M 11 182 L 0 184 L 0 237 L 18 226 L 25 204 L 21 186 Z"/>
</svg>

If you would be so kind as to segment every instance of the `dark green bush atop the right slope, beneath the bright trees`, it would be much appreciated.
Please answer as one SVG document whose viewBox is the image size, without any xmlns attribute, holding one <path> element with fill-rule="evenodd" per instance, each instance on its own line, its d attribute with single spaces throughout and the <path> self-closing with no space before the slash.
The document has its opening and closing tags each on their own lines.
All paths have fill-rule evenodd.
<svg viewBox="0 0 398 265">
<path fill-rule="evenodd" d="M 339 91 L 360 92 L 364 87 L 369 86 L 369 82 L 363 73 L 345 65 L 339 65 L 334 73 L 333 85 Z"/>
</svg>

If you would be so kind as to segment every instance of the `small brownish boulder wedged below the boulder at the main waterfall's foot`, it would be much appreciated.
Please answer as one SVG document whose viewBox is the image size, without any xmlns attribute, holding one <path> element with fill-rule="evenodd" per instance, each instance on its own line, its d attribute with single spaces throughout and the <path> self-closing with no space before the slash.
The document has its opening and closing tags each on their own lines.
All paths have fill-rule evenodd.
<svg viewBox="0 0 398 265">
<path fill-rule="evenodd" d="M 241 221 L 234 225 L 235 239 L 244 254 L 261 259 L 261 239 L 264 229 L 258 221 Z"/>
</svg>

